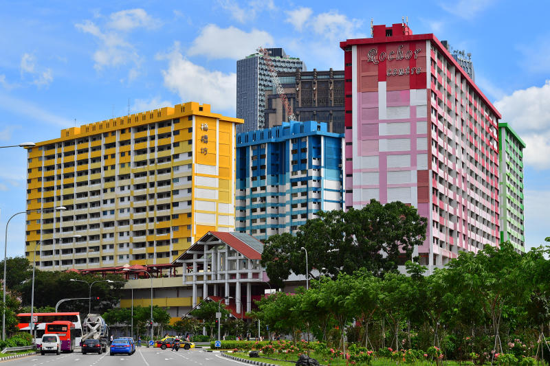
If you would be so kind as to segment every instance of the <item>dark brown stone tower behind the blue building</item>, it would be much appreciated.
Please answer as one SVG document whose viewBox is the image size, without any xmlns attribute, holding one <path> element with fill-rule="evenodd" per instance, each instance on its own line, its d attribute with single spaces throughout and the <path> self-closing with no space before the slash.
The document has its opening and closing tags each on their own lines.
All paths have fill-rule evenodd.
<svg viewBox="0 0 550 366">
<path fill-rule="evenodd" d="M 325 122 L 332 133 L 344 133 L 344 71 L 333 69 L 278 73 L 297 121 Z M 274 87 L 265 89 L 265 127 L 288 121 Z"/>
</svg>

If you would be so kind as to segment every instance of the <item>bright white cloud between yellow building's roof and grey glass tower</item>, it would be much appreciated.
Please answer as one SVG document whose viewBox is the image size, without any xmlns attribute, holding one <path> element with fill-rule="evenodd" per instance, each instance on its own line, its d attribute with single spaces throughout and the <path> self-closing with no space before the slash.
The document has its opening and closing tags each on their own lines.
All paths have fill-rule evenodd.
<svg viewBox="0 0 550 366">
<path fill-rule="evenodd" d="M 168 60 L 168 69 L 162 70 L 164 86 L 178 93 L 182 102 L 212 105 L 212 111 L 234 113 L 236 104 L 236 73 L 210 71 L 195 65 L 181 55 L 179 44 L 169 54 L 157 56 Z"/>
</svg>

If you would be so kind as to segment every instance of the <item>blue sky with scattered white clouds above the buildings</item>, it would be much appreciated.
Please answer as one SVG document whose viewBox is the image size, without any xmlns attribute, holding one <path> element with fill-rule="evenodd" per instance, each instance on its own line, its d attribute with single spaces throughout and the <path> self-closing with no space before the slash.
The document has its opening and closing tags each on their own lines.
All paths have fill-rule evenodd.
<svg viewBox="0 0 550 366">
<path fill-rule="evenodd" d="M 339 41 L 408 16 L 472 53 L 476 82 L 527 142 L 527 247 L 550 236 L 547 1 L 0 1 L 0 145 L 182 101 L 235 115 L 236 60 L 283 47 L 308 69 L 343 69 Z M 25 209 L 26 154 L 0 149 L 0 227 Z M 23 255 L 23 215 L 8 255 Z"/>
</svg>

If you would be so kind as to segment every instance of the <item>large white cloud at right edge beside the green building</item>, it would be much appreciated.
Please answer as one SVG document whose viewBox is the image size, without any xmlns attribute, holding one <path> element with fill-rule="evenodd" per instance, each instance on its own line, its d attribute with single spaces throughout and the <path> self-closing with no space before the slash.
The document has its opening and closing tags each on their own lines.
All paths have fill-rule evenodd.
<svg viewBox="0 0 550 366">
<path fill-rule="evenodd" d="M 550 80 L 542 87 L 529 87 L 505 95 L 495 102 L 508 122 L 520 135 L 527 148 L 524 160 L 536 169 L 550 168 Z"/>
</svg>

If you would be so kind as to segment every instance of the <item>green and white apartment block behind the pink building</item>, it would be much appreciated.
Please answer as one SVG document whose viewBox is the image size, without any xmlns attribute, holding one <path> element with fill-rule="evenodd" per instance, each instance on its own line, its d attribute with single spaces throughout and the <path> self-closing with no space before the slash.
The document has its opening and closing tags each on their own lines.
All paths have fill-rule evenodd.
<svg viewBox="0 0 550 366">
<path fill-rule="evenodd" d="M 523 224 L 523 149 L 525 142 L 509 124 L 498 124 L 500 152 L 500 242 L 509 240 L 525 253 Z"/>
</svg>

